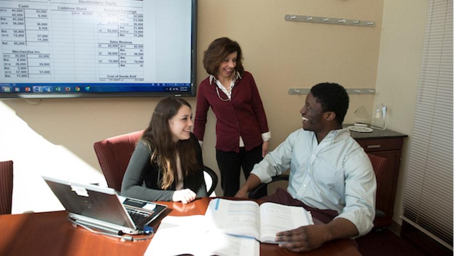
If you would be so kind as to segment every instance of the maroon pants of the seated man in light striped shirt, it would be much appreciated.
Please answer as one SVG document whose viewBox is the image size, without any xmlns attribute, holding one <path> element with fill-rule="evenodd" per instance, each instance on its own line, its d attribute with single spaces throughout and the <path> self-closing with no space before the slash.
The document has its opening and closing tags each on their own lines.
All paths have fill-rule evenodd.
<svg viewBox="0 0 454 256">
<path fill-rule="evenodd" d="M 313 208 L 310 206 L 307 206 L 305 203 L 294 199 L 292 195 L 290 195 L 285 189 L 282 188 L 277 188 L 276 193 L 270 196 L 266 196 L 261 198 L 260 200 L 263 200 L 265 202 L 272 202 L 276 204 L 281 204 L 281 205 L 289 205 L 289 206 L 302 206 L 306 211 L 310 211 L 312 214 L 312 217 L 323 222 L 323 223 L 328 223 L 334 217 L 337 216 L 337 211 L 334 210 L 320 210 L 317 208 Z"/>
</svg>

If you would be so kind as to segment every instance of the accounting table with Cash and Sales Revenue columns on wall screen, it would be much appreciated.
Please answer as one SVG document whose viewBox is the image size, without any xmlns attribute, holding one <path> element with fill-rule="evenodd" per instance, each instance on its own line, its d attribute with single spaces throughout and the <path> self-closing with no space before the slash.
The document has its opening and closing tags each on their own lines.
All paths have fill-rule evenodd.
<svg viewBox="0 0 454 256">
<path fill-rule="evenodd" d="M 0 3 L 2 80 L 144 80 L 143 1 L 79 2 Z"/>
</svg>

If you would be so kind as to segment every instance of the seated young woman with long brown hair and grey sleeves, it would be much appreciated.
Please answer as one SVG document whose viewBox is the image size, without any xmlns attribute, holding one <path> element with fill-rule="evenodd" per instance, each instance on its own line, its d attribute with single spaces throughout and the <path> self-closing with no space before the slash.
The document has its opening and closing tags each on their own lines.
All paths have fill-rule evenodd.
<svg viewBox="0 0 454 256">
<path fill-rule="evenodd" d="M 190 131 L 189 103 L 164 98 L 137 143 L 122 182 L 122 196 L 189 203 L 206 197 L 202 150 Z"/>
</svg>

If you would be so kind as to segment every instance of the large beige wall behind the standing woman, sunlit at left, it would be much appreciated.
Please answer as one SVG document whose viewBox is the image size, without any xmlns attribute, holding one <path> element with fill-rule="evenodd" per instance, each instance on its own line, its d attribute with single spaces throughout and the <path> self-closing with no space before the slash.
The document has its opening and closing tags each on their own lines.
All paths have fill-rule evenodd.
<svg viewBox="0 0 454 256">
<path fill-rule="evenodd" d="M 254 75 L 263 100 L 271 148 L 301 126 L 298 111 L 305 96 L 289 95 L 289 88 L 310 88 L 325 81 L 346 88 L 375 88 L 381 81 L 377 64 L 383 1 L 199 0 L 198 5 L 197 82 L 207 76 L 201 59 L 208 44 L 221 36 L 237 40 L 244 51 L 244 66 Z M 286 22 L 286 14 L 369 20 L 376 26 Z M 13 212 L 58 208 L 42 203 L 51 195 L 42 174 L 102 183 L 93 142 L 144 129 L 158 100 L 0 101 L 0 118 L 8 120 L 0 124 L 0 160 L 15 161 Z M 195 98 L 189 101 L 195 107 Z M 352 95 L 346 122 L 354 121 L 353 111 L 361 105 L 371 110 L 373 101 L 373 95 Z M 211 112 L 208 118 L 204 161 L 217 171 L 215 118 Z M 219 188 L 216 191 L 221 195 Z"/>
</svg>

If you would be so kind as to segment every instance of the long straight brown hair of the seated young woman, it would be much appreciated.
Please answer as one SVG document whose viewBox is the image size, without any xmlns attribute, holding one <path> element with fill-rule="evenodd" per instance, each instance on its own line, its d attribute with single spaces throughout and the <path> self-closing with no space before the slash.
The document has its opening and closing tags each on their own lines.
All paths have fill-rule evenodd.
<svg viewBox="0 0 454 256">
<path fill-rule="evenodd" d="M 192 175 L 200 170 L 196 157 L 194 140 L 172 141 L 172 132 L 168 120 L 172 119 L 180 108 L 189 103 L 182 98 L 167 97 L 159 101 L 151 116 L 150 124 L 145 129 L 142 140 L 148 145 L 151 163 L 157 164 L 162 171 L 161 187 L 172 186 L 177 177 L 176 153 L 180 155 L 180 163 L 184 176 Z"/>
</svg>

